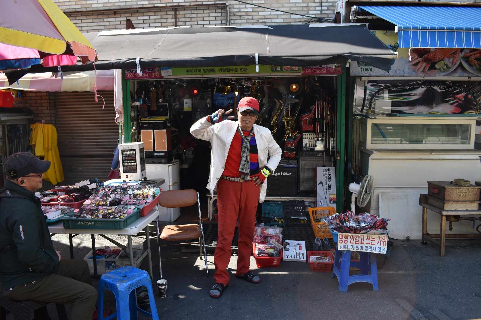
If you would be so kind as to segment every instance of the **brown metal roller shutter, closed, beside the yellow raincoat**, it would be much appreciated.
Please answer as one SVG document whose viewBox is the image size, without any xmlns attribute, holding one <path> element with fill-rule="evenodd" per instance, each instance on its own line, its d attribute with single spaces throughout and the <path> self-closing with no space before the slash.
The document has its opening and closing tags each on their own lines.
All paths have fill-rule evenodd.
<svg viewBox="0 0 481 320">
<path fill-rule="evenodd" d="M 58 147 L 65 181 L 62 184 L 99 178 L 106 180 L 117 146 L 114 92 L 99 91 L 105 99 L 95 102 L 93 92 L 55 94 Z"/>
</svg>

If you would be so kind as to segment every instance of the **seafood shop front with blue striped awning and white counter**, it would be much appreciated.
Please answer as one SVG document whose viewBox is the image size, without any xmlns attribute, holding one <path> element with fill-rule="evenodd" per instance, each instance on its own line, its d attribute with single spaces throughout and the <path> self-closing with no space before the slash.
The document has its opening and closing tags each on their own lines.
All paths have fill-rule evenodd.
<svg viewBox="0 0 481 320">
<path fill-rule="evenodd" d="M 475 49 L 481 43 L 471 19 L 481 8 L 351 0 L 337 8 L 338 22 L 369 21 L 372 33 L 399 54 L 388 72 L 351 64 L 350 167 L 357 178 L 374 178 L 363 210 L 395 220 L 393 238 L 420 239 L 419 195 L 427 193 L 427 182 L 481 178 L 481 51 Z M 428 211 L 428 219 L 428 233 L 439 233 L 439 215 Z M 472 222 L 452 225 L 447 233 L 476 233 Z"/>
</svg>

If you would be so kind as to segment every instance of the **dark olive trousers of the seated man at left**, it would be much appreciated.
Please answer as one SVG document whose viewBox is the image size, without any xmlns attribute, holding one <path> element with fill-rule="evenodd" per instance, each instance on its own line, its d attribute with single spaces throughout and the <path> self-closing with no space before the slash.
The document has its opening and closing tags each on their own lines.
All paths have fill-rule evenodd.
<svg viewBox="0 0 481 320">
<path fill-rule="evenodd" d="M 71 304 L 69 320 L 91 320 L 97 302 L 89 266 L 83 260 L 60 260 L 59 270 L 33 283 L 17 285 L 3 295 L 12 300 Z"/>
</svg>

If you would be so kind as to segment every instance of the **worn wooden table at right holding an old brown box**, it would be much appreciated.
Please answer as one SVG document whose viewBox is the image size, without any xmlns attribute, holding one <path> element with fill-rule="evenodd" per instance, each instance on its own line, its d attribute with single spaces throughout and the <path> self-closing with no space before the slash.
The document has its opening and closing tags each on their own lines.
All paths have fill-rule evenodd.
<svg viewBox="0 0 481 320">
<path fill-rule="evenodd" d="M 421 243 L 427 241 L 439 246 L 439 255 L 444 257 L 446 238 L 481 238 L 481 234 L 446 234 L 446 216 L 475 216 L 481 215 L 481 210 L 443 210 L 427 203 L 426 195 L 419 195 L 419 205 L 422 207 L 422 237 Z M 441 215 L 441 227 L 439 234 L 428 234 L 428 209 Z M 439 238 L 437 241 L 434 238 Z"/>
</svg>

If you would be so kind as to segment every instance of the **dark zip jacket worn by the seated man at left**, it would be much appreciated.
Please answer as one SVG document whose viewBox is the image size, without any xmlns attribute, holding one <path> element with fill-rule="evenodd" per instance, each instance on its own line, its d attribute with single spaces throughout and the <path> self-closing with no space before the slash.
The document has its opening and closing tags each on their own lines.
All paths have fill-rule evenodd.
<svg viewBox="0 0 481 320">
<path fill-rule="evenodd" d="M 53 273 L 59 259 L 40 200 L 7 181 L 0 193 L 0 283 L 4 289 Z"/>
</svg>

